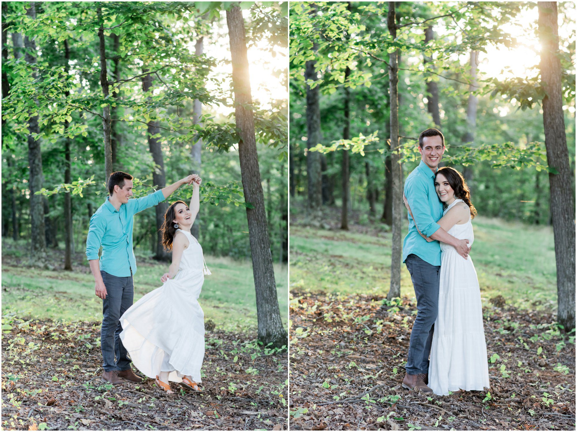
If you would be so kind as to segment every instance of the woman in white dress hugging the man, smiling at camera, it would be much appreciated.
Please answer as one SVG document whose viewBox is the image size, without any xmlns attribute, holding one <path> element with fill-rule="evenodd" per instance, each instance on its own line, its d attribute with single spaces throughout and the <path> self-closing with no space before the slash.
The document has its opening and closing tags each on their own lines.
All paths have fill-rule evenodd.
<svg viewBox="0 0 577 432">
<path fill-rule="evenodd" d="M 445 166 L 437 170 L 434 185 L 445 206 L 443 217 L 437 223 L 456 239 L 469 239 L 470 245 L 473 244 L 471 219 L 477 210 L 471 203 L 463 176 Z M 406 200 L 405 205 L 411 211 Z M 434 241 L 429 237 L 425 239 Z M 471 256 L 464 259 L 445 243 L 441 243 L 439 315 L 434 323 L 428 386 L 433 393 L 443 395 L 489 387 L 477 272 Z"/>
</svg>

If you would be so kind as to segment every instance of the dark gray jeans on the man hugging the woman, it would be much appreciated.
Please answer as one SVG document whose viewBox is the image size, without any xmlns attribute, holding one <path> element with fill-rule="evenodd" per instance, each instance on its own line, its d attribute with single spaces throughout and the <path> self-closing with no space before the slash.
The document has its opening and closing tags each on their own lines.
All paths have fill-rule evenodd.
<svg viewBox="0 0 577 432">
<path fill-rule="evenodd" d="M 439 269 L 415 254 L 405 260 L 417 297 L 417 318 L 411 330 L 409 355 L 404 367 L 409 375 L 429 372 L 434 322 L 439 313 Z"/>
</svg>

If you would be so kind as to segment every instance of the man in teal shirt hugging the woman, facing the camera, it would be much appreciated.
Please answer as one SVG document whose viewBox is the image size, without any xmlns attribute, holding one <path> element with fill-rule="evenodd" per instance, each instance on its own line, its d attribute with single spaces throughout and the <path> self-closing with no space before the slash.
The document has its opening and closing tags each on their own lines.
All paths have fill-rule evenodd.
<svg viewBox="0 0 577 432">
<path fill-rule="evenodd" d="M 404 182 L 406 196 L 413 217 L 409 214 L 409 233 L 403 241 L 403 262 L 411 274 L 417 297 L 417 318 L 411 330 L 409 355 L 405 366 L 403 388 L 432 392 L 429 381 L 429 353 L 433 340 L 433 326 L 439 306 L 439 269 L 441 247 L 439 241 L 455 247 L 467 258 L 469 240 L 459 240 L 437 224 L 443 216 L 443 203 L 434 187 L 437 166 L 445 152 L 445 138 L 437 129 L 426 129 L 419 135 L 421 162 Z M 413 219 L 414 218 L 414 219 Z M 416 224 L 416 225 L 415 225 Z M 417 230 L 437 241 L 426 241 Z"/>
</svg>

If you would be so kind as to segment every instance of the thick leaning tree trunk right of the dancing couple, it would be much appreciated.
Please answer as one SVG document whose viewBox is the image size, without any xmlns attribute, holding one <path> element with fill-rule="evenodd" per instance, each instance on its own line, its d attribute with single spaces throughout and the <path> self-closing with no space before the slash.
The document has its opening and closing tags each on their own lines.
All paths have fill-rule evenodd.
<svg viewBox="0 0 577 432">
<path fill-rule="evenodd" d="M 250 251 L 253 262 L 254 288 L 256 291 L 258 340 L 265 346 L 286 347 L 287 333 L 280 318 L 276 297 L 275 272 L 272 266 L 271 246 L 268 237 L 267 215 L 264 210 L 263 186 L 258 170 L 254 115 L 250 109 L 249 62 L 246 54 L 245 23 L 238 3 L 226 11 L 228 39 L 233 64 L 235 122 L 239 130 L 238 156 L 241 163 L 242 188 L 246 202 L 249 225 Z"/>
</svg>

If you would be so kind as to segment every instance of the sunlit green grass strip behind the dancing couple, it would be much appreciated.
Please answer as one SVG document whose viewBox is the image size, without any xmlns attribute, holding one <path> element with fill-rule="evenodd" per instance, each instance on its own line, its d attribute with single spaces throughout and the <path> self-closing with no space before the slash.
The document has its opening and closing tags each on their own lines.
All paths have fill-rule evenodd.
<svg viewBox="0 0 577 432">
<path fill-rule="evenodd" d="M 17 255 L 10 254 L 12 256 Z M 134 275 L 134 301 L 162 285 L 160 276 L 168 265 L 138 259 Z M 252 264 L 230 258 L 206 257 L 211 275 L 204 280 L 198 301 L 205 319 L 233 332 L 256 332 L 256 295 Z M 41 270 L 20 265 L 2 265 L 2 315 L 20 318 L 50 318 L 65 321 L 100 321 L 102 300 L 95 296 L 94 278 L 88 263 L 80 270 Z M 287 267 L 275 265 L 280 313 L 288 320 Z"/>
</svg>

